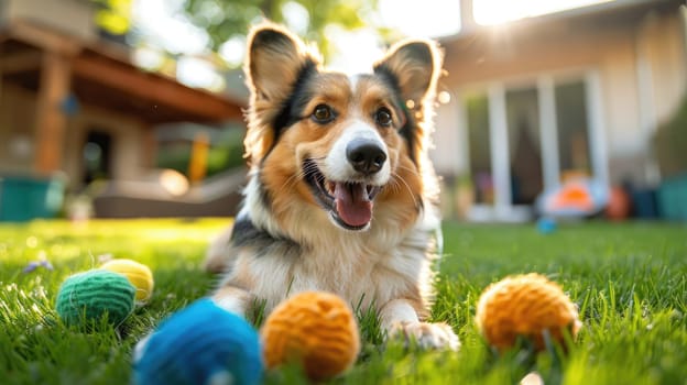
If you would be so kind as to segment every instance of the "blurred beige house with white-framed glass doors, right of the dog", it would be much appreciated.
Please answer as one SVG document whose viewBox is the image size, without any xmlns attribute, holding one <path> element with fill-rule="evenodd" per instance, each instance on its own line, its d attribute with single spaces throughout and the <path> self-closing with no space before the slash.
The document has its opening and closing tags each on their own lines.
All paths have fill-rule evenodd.
<svg viewBox="0 0 687 385">
<path fill-rule="evenodd" d="M 446 52 L 437 172 L 467 182 L 471 220 L 519 221 L 577 176 L 661 180 L 652 150 L 687 86 L 681 0 L 614 0 L 482 26 L 462 0 Z M 444 98 L 448 99 L 448 98 Z"/>
</svg>

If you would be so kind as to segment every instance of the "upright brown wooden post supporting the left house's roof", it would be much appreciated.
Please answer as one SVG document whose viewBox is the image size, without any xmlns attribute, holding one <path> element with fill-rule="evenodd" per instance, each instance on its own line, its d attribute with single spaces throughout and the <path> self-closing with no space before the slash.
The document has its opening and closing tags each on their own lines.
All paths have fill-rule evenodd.
<svg viewBox="0 0 687 385">
<path fill-rule="evenodd" d="M 57 52 L 45 52 L 41 68 L 35 114 L 34 169 L 48 175 L 62 167 L 67 118 L 62 102 L 69 94 L 69 59 Z"/>
</svg>

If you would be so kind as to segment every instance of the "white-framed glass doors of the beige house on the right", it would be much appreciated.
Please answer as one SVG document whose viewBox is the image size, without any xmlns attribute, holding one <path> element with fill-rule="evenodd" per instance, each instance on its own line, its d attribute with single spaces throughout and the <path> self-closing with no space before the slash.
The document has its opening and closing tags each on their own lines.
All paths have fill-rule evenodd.
<svg viewBox="0 0 687 385">
<path fill-rule="evenodd" d="M 590 73 L 593 75 L 593 73 Z M 542 75 L 464 95 L 473 220 L 522 221 L 545 189 L 606 180 L 600 90 L 588 76 Z"/>
</svg>

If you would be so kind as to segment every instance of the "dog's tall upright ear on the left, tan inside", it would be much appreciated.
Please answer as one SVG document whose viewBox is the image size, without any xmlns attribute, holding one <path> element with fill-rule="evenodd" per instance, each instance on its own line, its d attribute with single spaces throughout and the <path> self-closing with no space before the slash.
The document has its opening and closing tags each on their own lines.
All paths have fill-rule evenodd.
<svg viewBox="0 0 687 385">
<path fill-rule="evenodd" d="M 276 120 L 304 68 L 318 56 L 287 30 L 272 23 L 254 28 L 248 37 L 246 84 L 251 91 L 246 157 L 260 161 L 275 140 Z"/>
</svg>

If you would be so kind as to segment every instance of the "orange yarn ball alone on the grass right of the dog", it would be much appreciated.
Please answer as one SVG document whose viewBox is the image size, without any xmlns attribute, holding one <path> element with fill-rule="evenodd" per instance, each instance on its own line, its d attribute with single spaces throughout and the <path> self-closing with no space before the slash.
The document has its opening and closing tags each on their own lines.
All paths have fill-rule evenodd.
<svg viewBox="0 0 687 385">
<path fill-rule="evenodd" d="M 536 273 L 509 276 L 487 287 L 476 320 L 486 340 L 500 352 L 514 346 L 519 336 L 542 351 L 545 331 L 565 349 L 564 330 L 575 338 L 582 324 L 560 286 Z"/>
</svg>

